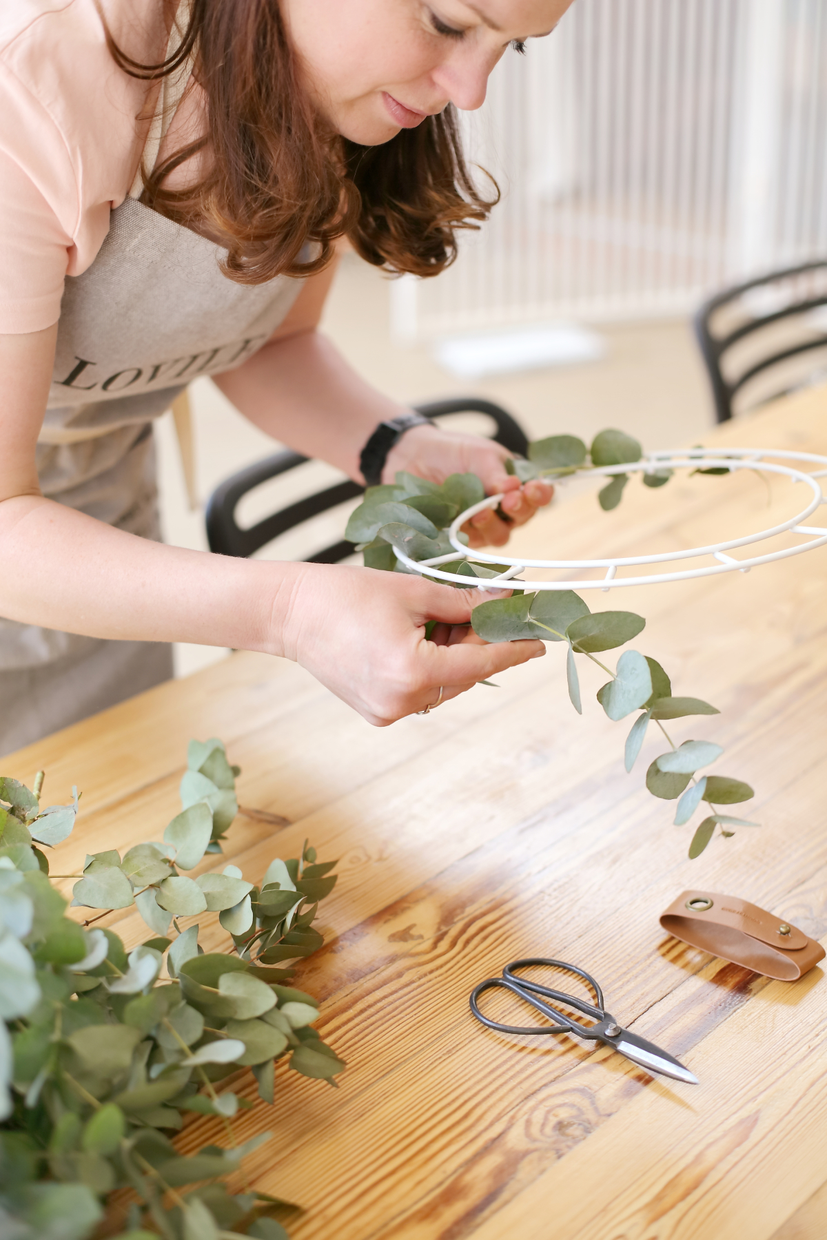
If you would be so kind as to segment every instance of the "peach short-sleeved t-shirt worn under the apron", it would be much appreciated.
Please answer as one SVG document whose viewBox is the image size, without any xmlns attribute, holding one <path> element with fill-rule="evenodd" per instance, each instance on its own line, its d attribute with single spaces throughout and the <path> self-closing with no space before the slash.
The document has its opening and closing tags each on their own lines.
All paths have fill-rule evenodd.
<svg viewBox="0 0 827 1240">
<path fill-rule="evenodd" d="M 161 0 L 102 7 L 128 55 L 164 57 Z M 0 10 L 1 334 L 60 317 L 64 277 L 93 263 L 129 193 L 157 83 L 118 68 L 94 0 L 2 0 Z"/>
</svg>

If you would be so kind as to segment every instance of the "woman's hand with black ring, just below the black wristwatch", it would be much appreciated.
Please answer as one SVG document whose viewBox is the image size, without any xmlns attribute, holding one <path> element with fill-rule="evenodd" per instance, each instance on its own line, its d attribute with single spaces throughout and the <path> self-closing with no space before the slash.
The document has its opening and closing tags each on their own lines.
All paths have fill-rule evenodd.
<svg viewBox="0 0 827 1240">
<path fill-rule="evenodd" d="M 481 435 L 456 435 L 438 427 L 413 427 L 388 453 L 383 482 L 393 482 L 398 470 L 415 474 L 430 482 L 444 482 L 451 474 L 477 474 L 486 495 L 505 492 L 498 515 L 496 508 L 477 512 L 465 526 L 471 547 L 502 547 L 512 526 L 522 526 L 538 508 L 551 502 L 551 482 L 533 480 L 521 486 L 520 479 L 506 472 L 511 453 Z"/>
</svg>

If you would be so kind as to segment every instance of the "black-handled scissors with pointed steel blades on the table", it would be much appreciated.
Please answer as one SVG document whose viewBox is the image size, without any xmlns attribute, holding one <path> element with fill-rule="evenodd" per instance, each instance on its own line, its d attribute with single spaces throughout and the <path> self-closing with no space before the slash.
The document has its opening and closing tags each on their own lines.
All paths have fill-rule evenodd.
<svg viewBox="0 0 827 1240">
<path fill-rule="evenodd" d="M 515 972 L 518 968 L 529 968 L 537 965 L 563 968 L 568 973 L 575 973 L 578 977 L 582 977 L 594 991 L 598 999 L 596 1007 L 575 998 L 573 994 L 567 994 L 565 991 L 554 991 L 548 986 L 541 986 L 539 982 L 529 981 L 527 977 L 515 977 Z M 479 1004 L 480 994 L 484 991 L 498 987 L 511 991 L 518 998 L 524 999 L 526 1003 L 531 1003 L 533 1008 L 555 1023 L 547 1027 L 536 1024 L 521 1027 L 500 1024 L 498 1021 L 492 1021 L 490 1017 L 484 1016 Z M 565 1007 L 577 1008 L 578 1012 L 590 1017 L 595 1023 L 583 1025 L 579 1021 L 552 1007 L 551 1003 L 543 1003 L 542 999 L 536 998 L 534 996 L 537 994 L 543 994 L 548 999 L 557 999 L 558 1003 L 564 1003 Z M 674 1080 L 687 1081 L 689 1085 L 699 1084 L 698 1078 L 666 1050 L 661 1050 L 660 1047 L 646 1042 L 645 1038 L 639 1038 L 636 1033 L 630 1033 L 629 1029 L 624 1029 L 622 1025 L 617 1024 L 614 1016 L 606 1012 L 603 1002 L 603 991 L 594 977 L 590 977 L 589 973 L 575 965 L 567 965 L 563 960 L 544 960 L 542 956 L 532 956 L 528 960 L 512 960 L 502 970 L 502 977 L 487 977 L 479 986 L 475 986 L 471 991 L 470 1002 L 471 1012 L 477 1021 L 481 1021 L 489 1029 L 497 1029 L 498 1033 L 524 1033 L 534 1037 L 551 1033 L 573 1033 L 575 1037 L 585 1038 L 589 1042 L 603 1042 L 606 1047 L 620 1052 L 626 1059 L 631 1059 L 634 1064 L 639 1064 L 639 1066 L 645 1068 L 648 1073 L 661 1073 L 663 1076 L 672 1076 Z"/>
</svg>

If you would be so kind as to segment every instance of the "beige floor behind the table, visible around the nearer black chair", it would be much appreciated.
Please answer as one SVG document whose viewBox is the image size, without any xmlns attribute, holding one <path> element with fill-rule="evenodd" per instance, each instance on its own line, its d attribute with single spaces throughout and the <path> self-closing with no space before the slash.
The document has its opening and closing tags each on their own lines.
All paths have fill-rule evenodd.
<svg viewBox="0 0 827 1240">
<path fill-rule="evenodd" d="M 361 374 L 397 399 L 412 403 L 475 392 L 503 404 L 534 439 L 569 432 L 588 440 L 604 427 L 620 427 L 646 446 L 665 448 L 702 436 L 713 422 L 705 377 L 684 320 L 600 329 L 606 340 L 606 356 L 600 362 L 469 383 L 441 370 L 428 348 L 403 346 L 391 339 L 389 281 L 351 254 L 336 278 L 322 326 Z M 198 496 L 203 502 L 223 477 L 274 451 L 275 445 L 247 423 L 210 379 L 198 379 L 191 397 Z M 203 513 L 188 510 L 169 414 L 157 427 L 157 441 L 166 539 L 206 549 Z M 321 471 L 317 474 L 321 476 Z M 275 486 L 262 489 L 259 508 L 272 498 L 275 506 Z M 248 520 L 255 515 L 255 501 L 250 501 Z M 326 520 L 337 536 L 342 516 Z M 291 536 L 274 552 L 285 558 L 301 554 Z M 180 646 L 177 675 L 224 653 L 212 647 Z"/>
</svg>

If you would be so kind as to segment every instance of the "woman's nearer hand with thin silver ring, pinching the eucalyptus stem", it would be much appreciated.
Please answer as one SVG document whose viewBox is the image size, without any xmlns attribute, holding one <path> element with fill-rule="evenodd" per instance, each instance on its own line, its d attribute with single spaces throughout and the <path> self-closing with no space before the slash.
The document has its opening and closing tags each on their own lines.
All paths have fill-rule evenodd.
<svg viewBox="0 0 827 1240">
<path fill-rule="evenodd" d="M 542 641 L 490 645 L 470 627 L 474 606 L 505 591 L 454 589 L 407 573 L 296 565 L 279 591 L 274 652 L 295 660 L 377 728 L 456 697 L 546 653 Z M 440 621 L 434 640 L 425 624 Z M 456 627 L 466 626 L 466 627 Z"/>
</svg>

